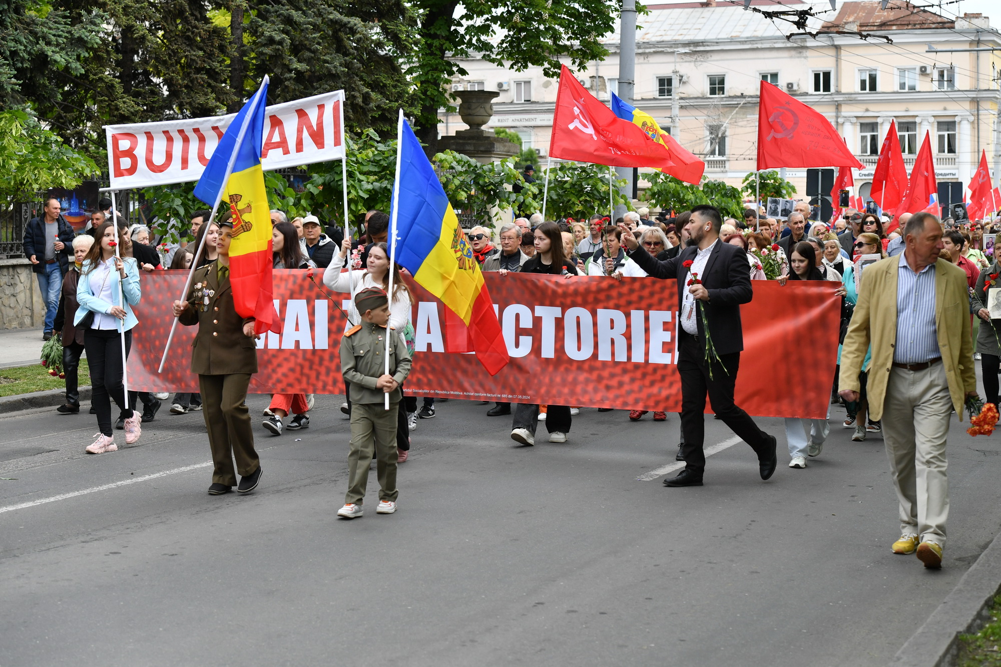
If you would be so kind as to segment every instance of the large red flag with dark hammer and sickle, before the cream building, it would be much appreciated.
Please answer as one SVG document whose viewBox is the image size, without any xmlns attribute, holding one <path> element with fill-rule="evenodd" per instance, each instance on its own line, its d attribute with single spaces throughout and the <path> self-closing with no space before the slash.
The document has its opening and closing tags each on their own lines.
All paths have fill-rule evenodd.
<svg viewBox="0 0 1001 667">
<path fill-rule="evenodd" d="M 862 168 L 834 125 L 818 111 L 761 82 L 758 105 L 758 170 L 774 167 Z"/>
</svg>

